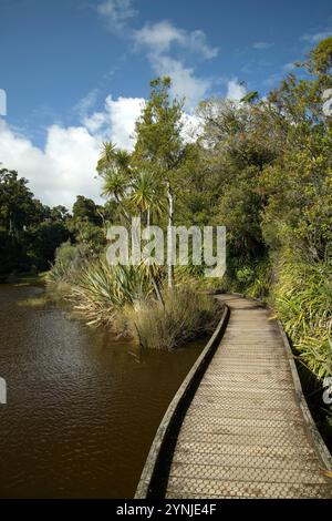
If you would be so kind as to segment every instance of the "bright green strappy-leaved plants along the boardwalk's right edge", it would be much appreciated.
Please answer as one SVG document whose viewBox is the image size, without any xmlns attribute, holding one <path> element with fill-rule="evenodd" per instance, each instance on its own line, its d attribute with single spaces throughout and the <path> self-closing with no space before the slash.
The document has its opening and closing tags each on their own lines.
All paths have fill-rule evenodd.
<svg viewBox="0 0 332 521">
<path fill-rule="evenodd" d="M 299 353 L 319 378 L 332 375 L 332 259 L 281 262 L 273 304 Z"/>
</svg>

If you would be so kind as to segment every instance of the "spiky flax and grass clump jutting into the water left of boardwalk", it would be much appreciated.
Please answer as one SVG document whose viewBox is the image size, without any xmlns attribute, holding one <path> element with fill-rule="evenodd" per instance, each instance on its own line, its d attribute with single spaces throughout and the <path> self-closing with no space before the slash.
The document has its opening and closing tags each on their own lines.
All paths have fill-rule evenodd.
<svg viewBox="0 0 332 521">
<path fill-rule="evenodd" d="M 220 317 L 220 306 L 195 275 L 177 267 L 175 287 L 163 288 L 165 273 L 156 266 L 111 266 L 65 243 L 48 279 L 87 325 L 107 326 L 147 348 L 172 349 L 211 333 Z"/>
</svg>

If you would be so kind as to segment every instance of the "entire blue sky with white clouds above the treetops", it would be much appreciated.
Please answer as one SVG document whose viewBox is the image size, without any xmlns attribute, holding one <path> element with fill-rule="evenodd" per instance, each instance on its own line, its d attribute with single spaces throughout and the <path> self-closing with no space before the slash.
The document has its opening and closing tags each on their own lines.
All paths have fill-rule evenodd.
<svg viewBox="0 0 332 521">
<path fill-rule="evenodd" d="M 332 33 L 330 0 L 0 0 L 0 162 L 69 205 L 97 197 L 102 139 L 132 146 L 152 78 L 170 74 L 190 114 L 209 95 L 266 94 Z"/>
</svg>

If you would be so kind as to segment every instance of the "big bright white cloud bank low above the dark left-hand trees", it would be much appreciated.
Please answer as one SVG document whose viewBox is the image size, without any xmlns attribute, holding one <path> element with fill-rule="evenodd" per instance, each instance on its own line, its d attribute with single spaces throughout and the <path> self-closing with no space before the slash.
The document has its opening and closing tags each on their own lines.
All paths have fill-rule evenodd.
<svg viewBox="0 0 332 521">
<path fill-rule="evenodd" d="M 129 135 L 141 113 L 141 98 L 107 96 L 103 112 L 86 118 L 82 125 L 48 129 L 44 149 L 17 134 L 0 120 L 0 161 L 30 182 L 34 195 L 51 206 L 71 207 L 76 195 L 100 201 L 95 166 L 104 139 L 132 147 Z"/>
</svg>

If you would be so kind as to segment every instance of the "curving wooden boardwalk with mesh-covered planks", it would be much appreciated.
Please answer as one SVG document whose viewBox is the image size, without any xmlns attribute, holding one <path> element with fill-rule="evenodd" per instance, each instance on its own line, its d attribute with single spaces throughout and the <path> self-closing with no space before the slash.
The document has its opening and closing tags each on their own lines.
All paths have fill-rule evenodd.
<svg viewBox="0 0 332 521">
<path fill-rule="evenodd" d="M 166 498 L 332 498 L 278 323 L 253 300 L 221 298 L 229 324 L 181 423 Z"/>
</svg>

